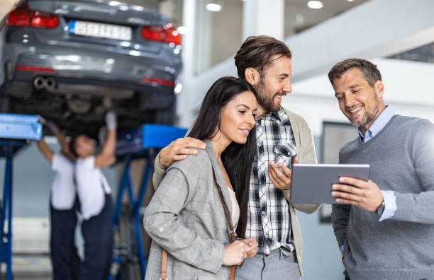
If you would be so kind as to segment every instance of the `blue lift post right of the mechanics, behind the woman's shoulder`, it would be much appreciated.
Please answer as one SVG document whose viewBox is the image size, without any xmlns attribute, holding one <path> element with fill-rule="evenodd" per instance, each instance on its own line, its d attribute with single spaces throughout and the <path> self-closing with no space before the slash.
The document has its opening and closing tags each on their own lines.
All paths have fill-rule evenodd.
<svg viewBox="0 0 434 280">
<path fill-rule="evenodd" d="M 143 250 L 143 240 L 140 229 L 142 227 L 140 217 L 140 206 L 145 198 L 148 181 L 154 167 L 154 160 L 157 152 L 161 148 L 169 145 L 175 139 L 184 137 L 187 129 L 172 127 L 160 124 L 143 124 L 132 131 L 121 134 L 118 137 L 116 144 L 116 156 L 123 159 L 123 175 L 118 188 L 116 197 L 116 206 L 113 215 L 114 226 L 119 226 L 119 216 L 121 214 L 123 193 L 128 189 L 128 197 L 130 202 L 131 213 L 135 228 L 135 241 L 138 249 L 138 261 L 140 265 L 141 279 L 145 278 L 146 273 L 146 258 Z M 135 197 L 133 192 L 133 184 L 130 178 L 130 163 L 134 158 L 146 158 L 145 170 L 140 184 L 138 196 Z M 121 254 L 113 257 L 113 262 L 121 263 Z M 113 275 L 109 279 L 120 279 L 120 274 Z"/>
</svg>

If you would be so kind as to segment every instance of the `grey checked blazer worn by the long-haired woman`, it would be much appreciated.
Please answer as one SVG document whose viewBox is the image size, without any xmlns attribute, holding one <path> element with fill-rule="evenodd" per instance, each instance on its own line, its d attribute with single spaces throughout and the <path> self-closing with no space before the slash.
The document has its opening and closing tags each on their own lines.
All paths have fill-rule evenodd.
<svg viewBox="0 0 434 280">
<path fill-rule="evenodd" d="M 232 204 L 211 142 L 205 143 L 205 150 L 167 169 L 146 207 L 143 223 L 152 238 L 146 280 L 160 279 L 162 247 L 168 252 L 170 280 L 229 279 L 230 267 L 222 266 L 229 228 L 212 168 L 229 216 Z"/>
</svg>

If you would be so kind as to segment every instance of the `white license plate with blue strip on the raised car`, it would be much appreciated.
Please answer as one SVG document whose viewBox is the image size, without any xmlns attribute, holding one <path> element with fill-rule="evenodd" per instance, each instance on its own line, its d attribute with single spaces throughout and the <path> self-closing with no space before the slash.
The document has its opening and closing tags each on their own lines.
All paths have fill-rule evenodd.
<svg viewBox="0 0 434 280">
<path fill-rule="evenodd" d="M 92 23 L 90 21 L 69 21 L 69 33 L 114 40 L 131 40 L 131 28 L 128 26 Z"/>
</svg>

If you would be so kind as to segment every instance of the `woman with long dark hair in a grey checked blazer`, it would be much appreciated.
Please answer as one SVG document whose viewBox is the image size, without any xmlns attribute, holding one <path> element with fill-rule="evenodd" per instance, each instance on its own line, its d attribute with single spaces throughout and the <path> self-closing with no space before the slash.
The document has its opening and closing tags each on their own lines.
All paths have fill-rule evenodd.
<svg viewBox="0 0 434 280">
<path fill-rule="evenodd" d="M 162 270 L 171 280 L 228 279 L 231 266 L 255 255 L 256 240 L 243 238 L 256 106 L 255 91 L 238 78 L 219 78 L 206 93 L 188 134 L 206 149 L 167 169 L 145 211 L 152 238 L 145 279 L 160 279 Z"/>
</svg>

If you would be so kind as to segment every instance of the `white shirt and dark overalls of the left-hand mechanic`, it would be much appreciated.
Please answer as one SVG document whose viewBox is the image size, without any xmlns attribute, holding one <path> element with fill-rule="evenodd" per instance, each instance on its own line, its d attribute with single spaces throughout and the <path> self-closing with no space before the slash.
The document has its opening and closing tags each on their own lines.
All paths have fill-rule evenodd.
<svg viewBox="0 0 434 280">
<path fill-rule="evenodd" d="M 50 195 L 52 279 L 76 280 L 80 259 L 74 243 L 78 209 L 74 163 L 66 156 L 55 153 L 51 168 L 55 171 Z"/>
</svg>

